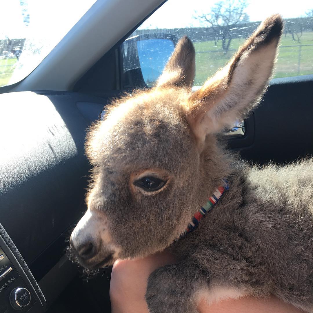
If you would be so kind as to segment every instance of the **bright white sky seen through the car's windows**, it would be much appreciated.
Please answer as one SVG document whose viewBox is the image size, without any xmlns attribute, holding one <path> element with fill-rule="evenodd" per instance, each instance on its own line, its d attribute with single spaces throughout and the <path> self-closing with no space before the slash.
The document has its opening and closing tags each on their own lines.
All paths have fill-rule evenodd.
<svg viewBox="0 0 313 313">
<path fill-rule="evenodd" d="M 23 0 L 23 8 L 30 15 L 26 27 L 21 15 L 20 0 L 0 0 L 0 38 L 54 37 L 61 39 L 96 0 Z M 105 1 L 105 0 L 98 0 Z M 125 0 L 128 1 L 128 0 Z M 149 0 L 151 1 L 151 0 Z M 246 13 L 250 21 L 260 21 L 271 13 L 281 13 L 284 18 L 305 16 L 313 9 L 312 0 L 248 0 Z M 183 28 L 203 26 L 192 18 L 195 10 L 208 13 L 217 0 L 168 0 L 148 18 L 140 28 Z M 134 8 L 136 9 L 136 8 Z"/>
</svg>

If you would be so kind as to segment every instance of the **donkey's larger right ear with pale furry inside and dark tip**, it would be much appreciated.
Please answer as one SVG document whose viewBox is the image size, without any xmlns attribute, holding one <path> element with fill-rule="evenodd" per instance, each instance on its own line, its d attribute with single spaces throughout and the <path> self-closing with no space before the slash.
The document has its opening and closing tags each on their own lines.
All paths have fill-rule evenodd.
<svg viewBox="0 0 313 313">
<path fill-rule="evenodd" d="M 280 15 L 267 18 L 231 61 L 190 96 L 187 120 L 200 141 L 242 119 L 260 102 L 273 71 L 282 28 Z"/>
</svg>

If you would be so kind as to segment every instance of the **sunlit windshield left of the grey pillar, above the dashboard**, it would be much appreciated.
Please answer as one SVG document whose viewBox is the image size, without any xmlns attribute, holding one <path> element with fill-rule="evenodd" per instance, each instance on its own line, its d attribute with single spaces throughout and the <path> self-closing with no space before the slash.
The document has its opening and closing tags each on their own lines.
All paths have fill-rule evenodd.
<svg viewBox="0 0 313 313">
<path fill-rule="evenodd" d="M 96 0 L 0 0 L 0 87 L 25 78 Z"/>
</svg>

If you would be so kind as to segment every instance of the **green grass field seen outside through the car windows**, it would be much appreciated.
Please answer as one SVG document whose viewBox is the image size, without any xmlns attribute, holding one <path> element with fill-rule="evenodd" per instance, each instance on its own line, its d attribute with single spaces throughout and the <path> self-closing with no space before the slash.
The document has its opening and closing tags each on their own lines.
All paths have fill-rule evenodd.
<svg viewBox="0 0 313 313">
<path fill-rule="evenodd" d="M 217 46 L 214 41 L 194 43 L 196 49 L 195 85 L 202 85 L 209 76 L 223 67 L 243 42 L 244 39 L 232 39 L 230 51 L 227 53 L 222 51 L 221 40 L 218 41 Z M 303 33 L 300 38 L 301 48 L 298 45 L 299 43 L 293 41 L 290 34 L 286 37 L 283 35 L 275 78 L 313 74 L 313 32 Z M 15 58 L 0 60 L 0 87 L 8 84 L 16 62 Z"/>
</svg>

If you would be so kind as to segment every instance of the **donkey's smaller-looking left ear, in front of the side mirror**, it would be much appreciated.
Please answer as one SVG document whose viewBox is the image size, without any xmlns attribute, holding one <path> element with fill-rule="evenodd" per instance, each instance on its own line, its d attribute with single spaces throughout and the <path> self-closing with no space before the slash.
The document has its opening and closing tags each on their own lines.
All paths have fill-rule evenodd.
<svg viewBox="0 0 313 313">
<path fill-rule="evenodd" d="M 195 49 L 187 36 L 181 38 L 167 62 L 156 87 L 192 87 L 195 77 Z"/>
</svg>

